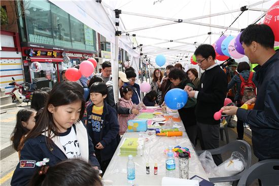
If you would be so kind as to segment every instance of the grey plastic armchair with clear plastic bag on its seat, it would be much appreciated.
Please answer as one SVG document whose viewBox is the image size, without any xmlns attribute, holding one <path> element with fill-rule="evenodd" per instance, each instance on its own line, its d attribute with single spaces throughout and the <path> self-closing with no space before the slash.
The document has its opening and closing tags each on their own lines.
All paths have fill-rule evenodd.
<svg viewBox="0 0 279 186">
<path fill-rule="evenodd" d="M 244 159 L 246 161 L 245 169 L 243 171 L 241 171 L 240 173 L 238 173 L 234 176 L 212 177 L 212 178 L 209 178 L 209 180 L 211 182 L 229 182 L 229 181 L 239 180 L 241 178 L 241 176 L 243 175 L 243 173 L 246 170 L 248 170 L 251 166 L 252 152 L 251 152 L 251 147 L 250 147 L 249 143 L 247 143 L 246 141 L 243 141 L 243 140 L 232 141 L 227 145 L 224 145 L 224 146 L 221 146 L 221 147 L 215 148 L 215 149 L 210 149 L 207 151 L 211 152 L 211 154 L 213 154 L 213 155 L 222 154 L 227 151 L 231 151 L 231 152 L 238 151 L 242 154 L 242 156 L 244 157 Z M 201 154 L 202 152 L 204 152 L 204 150 L 197 151 L 198 155 Z"/>
</svg>

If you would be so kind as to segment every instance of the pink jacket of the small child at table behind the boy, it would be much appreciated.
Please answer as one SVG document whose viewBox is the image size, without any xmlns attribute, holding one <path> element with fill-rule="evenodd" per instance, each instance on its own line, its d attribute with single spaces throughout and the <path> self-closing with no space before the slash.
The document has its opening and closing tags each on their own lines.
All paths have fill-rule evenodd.
<svg viewBox="0 0 279 186">
<path fill-rule="evenodd" d="M 126 107 L 131 109 L 133 106 L 133 102 L 131 100 L 125 100 L 124 98 L 119 99 L 119 106 Z M 130 119 L 133 119 L 135 114 L 118 114 L 118 122 L 120 125 L 119 135 L 123 135 L 127 130 L 127 122 Z"/>
</svg>

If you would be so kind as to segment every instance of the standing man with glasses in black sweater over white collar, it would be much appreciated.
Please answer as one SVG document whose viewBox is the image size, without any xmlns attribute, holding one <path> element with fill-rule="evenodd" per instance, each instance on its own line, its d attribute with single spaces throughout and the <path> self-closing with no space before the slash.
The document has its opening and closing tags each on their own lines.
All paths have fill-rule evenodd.
<svg viewBox="0 0 279 186">
<path fill-rule="evenodd" d="M 195 114 L 201 149 L 214 149 L 219 147 L 220 120 L 215 120 L 213 115 L 224 106 L 228 80 L 214 61 L 216 53 L 212 45 L 200 45 L 194 54 L 204 72 L 197 90 L 190 86 L 185 86 L 185 89 L 190 98 L 197 99 Z M 221 154 L 214 155 L 213 159 L 217 166 L 222 163 Z"/>
</svg>

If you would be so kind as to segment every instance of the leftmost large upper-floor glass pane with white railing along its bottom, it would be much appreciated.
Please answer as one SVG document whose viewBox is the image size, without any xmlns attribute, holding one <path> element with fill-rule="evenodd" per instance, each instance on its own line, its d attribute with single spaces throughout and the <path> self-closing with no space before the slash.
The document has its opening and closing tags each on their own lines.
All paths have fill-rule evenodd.
<svg viewBox="0 0 279 186">
<path fill-rule="evenodd" d="M 50 4 L 44 0 L 26 2 L 28 3 L 24 3 L 24 12 L 28 40 L 53 45 Z"/>
</svg>

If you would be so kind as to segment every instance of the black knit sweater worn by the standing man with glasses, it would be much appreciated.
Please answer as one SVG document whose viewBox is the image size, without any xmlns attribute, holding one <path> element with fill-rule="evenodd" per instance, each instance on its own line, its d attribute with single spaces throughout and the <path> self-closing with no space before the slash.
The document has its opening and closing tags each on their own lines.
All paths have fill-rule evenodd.
<svg viewBox="0 0 279 186">
<path fill-rule="evenodd" d="M 197 122 L 219 125 L 220 120 L 215 120 L 213 115 L 224 106 L 228 80 L 220 66 L 204 71 L 198 86 L 196 105 Z"/>
</svg>

